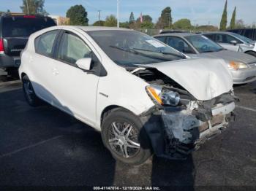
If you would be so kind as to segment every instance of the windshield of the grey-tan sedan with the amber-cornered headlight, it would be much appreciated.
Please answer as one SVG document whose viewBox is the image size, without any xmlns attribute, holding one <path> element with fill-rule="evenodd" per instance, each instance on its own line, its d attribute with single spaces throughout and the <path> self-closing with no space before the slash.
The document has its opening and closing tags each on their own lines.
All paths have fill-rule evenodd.
<svg viewBox="0 0 256 191">
<path fill-rule="evenodd" d="M 185 36 L 185 38 L 195 47 L 195 49 L 200 52 L 217 52 L 223 50 L 219 44 L 211 41 L 206 36 L 203 35 L 192 35 Z"/>
</svg>

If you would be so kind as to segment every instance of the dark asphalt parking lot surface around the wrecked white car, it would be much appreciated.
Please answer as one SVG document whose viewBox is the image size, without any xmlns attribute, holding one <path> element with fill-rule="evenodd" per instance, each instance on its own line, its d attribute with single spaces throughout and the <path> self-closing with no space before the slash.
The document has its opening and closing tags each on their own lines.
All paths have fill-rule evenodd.
<svg viewBox="0 0 256 191">
<path fill-rule="evenodd" d="M 225 186 L 256 190 L 256 82 L 236 86 L 236 122 L 184 161 L 116 162 L 100 133 L 47 104 L 26 104 L 0 82 L 0 186 Z"/>
</svg>

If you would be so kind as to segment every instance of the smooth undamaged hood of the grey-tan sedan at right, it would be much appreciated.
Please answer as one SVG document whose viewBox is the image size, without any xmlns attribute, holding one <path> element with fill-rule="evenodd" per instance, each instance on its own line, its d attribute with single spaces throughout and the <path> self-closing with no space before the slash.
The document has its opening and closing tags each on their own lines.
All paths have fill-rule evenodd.
<svg viewBox="0 0 256 191">
<path fill-rule="evenodd" d="M 243 52 L 235 52 L 231 50 L 221 50 L 219 52 L 206 52 L 200 55 L 207 58 L 222 58 L 225 61 L 238 61 L 242 63 L 256 63 L 256 58 L 252 55 L 245 54 Z"/>
</svg>

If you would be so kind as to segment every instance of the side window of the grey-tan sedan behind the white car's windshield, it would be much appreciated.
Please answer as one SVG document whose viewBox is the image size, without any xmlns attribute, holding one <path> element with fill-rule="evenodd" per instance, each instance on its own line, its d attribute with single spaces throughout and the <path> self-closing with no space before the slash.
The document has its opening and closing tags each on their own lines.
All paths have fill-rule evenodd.
<svg viewBox="0 0 256 191">
<path fill-rule="evenodd" d="M 184 39 L 181 39 L 179 37 L 167 36 L 166 44 L 178 50 L 179 52 L 195 54 L 195 51 L 192 49 L 192 47 L 190 47 L 189 44 L 184 41 Z"/>
</svg>

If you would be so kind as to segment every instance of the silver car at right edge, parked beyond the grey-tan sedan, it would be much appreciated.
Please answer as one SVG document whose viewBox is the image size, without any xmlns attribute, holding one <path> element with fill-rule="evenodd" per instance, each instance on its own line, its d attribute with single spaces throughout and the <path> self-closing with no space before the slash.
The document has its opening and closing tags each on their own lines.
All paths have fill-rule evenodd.
<svg viewBox="0 0 256 191">
<path fill-rule="evenodd" d="M 244 52 L 256 57 L 256 44 L 252 39 L 248 39 L 240 34 L 230 32 L 213 32 L 205 33 L 209 39 L 217 42 L 227 50 L 233 50 L 236 52 Z"/>
</svg>

